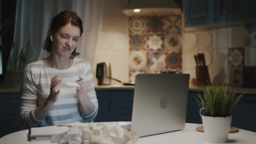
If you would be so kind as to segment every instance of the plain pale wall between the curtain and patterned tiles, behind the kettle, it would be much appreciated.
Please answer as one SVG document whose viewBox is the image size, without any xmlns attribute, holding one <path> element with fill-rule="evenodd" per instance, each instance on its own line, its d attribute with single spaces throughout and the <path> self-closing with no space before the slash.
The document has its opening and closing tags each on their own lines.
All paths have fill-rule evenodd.
<svg viewBox="0 0 256 144">
<path fill-rule="evenodd" d="M 112 77 L 128 82 L 128 17 L 122 13 L 126 0 L 105 0 L 101 33 L 97 43 L 96 63 L 109 61 Z M 96 64 L 93 66 L 96 72 Z"/>
</svg>

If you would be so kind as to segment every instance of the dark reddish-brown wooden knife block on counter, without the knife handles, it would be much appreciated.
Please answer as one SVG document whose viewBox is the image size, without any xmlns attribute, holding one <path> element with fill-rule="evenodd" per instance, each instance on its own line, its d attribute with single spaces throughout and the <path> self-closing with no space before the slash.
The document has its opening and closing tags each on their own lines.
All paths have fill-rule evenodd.
<svg viewBox="0 0 256 144">
<path fill-rule="evenodd" d="M 196 66 L 195 74 L 197 85 L 211 85 L 209 70 L 207 66 Z"/>
</svg>

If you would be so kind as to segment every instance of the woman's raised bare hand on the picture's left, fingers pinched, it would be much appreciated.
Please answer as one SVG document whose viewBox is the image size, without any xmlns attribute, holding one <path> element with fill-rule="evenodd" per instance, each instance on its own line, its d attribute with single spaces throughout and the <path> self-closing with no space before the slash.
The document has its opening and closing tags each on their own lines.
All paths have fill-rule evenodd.
<svg viewBox="0 0 256 144">
<path fill-rule="evenodd" d="M 60 93 L 60 90 L 59 90 L 60 84 L 61 84 L 61 79 L 59 78 L 58 75 L 55 75 L 51 79 L 50 95 L 47 98 L 48 102 L 55 103 L 58 100 L 59 93 Z"/>
</svg>

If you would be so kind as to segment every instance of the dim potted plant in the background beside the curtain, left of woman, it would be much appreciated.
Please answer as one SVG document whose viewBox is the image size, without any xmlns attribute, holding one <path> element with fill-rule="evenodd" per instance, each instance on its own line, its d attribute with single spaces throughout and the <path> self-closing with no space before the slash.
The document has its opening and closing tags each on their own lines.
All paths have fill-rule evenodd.
<svg viewBox="0 0 256 144">
<path fill-rule="evenodd" d="M 28 49 L 29 42 L 23 46 L 14 44 L 12 47 L 7 66 L 7 76 L 12 88 L 20 88 L 21 86 L 24 67 L 27 64 Z"/>
</svg>

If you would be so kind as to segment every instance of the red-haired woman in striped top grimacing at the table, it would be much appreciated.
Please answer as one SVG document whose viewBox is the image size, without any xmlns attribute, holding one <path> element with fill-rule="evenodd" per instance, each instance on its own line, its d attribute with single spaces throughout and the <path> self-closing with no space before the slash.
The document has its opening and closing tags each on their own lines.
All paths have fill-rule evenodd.
<svg viewBox="0 0 256 144">
<path fill-rule="evenodd" d="M 95 119 L 98 100 L 91 65 L 75 58 L 82 33 L 82 21 L 74 12 L 62 11 L 51 20 L 43 45 L 50 56 L 24 71 L 21 119 L 26 128 Z"/>
</svg>

